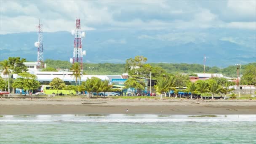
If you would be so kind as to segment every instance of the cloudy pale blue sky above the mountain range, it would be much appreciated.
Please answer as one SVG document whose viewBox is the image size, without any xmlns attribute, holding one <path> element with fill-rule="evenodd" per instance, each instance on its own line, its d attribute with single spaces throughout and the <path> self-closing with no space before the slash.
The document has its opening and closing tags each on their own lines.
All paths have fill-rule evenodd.
<svg viewBox="0 0 256 144">
<path fill-rule="evenodd" d="M 214 37 L 256 50 L 256 0 L 0 0 L 2 35 L 35 32 L 39 19 L 43 32 L 70 32 L 76 18 L 85 32 L 146 30 L 138 39 L 173 43 Z"/>
</svg>

